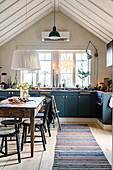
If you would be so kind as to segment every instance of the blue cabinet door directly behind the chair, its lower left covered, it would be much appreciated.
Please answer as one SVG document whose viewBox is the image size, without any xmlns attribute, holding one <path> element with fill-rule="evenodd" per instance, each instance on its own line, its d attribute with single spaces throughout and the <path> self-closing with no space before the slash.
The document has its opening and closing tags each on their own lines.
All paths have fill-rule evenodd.
<svg viewBox="0 0 113 170">
<path fill-rule="evenodd" d="M 54 95 L 57 109 L 60 111 L 59 116 L 64 117 L 64 99 L 63 95 Z"/>
</svg>

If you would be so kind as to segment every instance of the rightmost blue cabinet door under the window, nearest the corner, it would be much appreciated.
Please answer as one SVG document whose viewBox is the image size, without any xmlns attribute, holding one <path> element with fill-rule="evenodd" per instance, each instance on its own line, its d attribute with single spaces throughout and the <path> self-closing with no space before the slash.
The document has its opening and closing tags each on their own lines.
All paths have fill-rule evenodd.
<svg viewBox="0 0 113 170">
<path fill-rule="evenodd" d="M 91 103 L 91 94 L 79 95 L 79 117 L 92 117 Z"/>
</svg>

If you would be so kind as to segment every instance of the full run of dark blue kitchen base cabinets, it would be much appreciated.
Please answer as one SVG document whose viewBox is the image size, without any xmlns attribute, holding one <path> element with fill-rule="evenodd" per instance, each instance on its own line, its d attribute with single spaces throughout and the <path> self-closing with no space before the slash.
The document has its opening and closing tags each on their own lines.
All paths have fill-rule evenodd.
<svg viewBox="0 0 113 170">
<path fill-rule="evenodd" d="M 111 124 L 112 109 L 108 106 L 111 94 L 101 92 L 29 91 L 31 97 L 54 95 L 60 117 L 98 118 Z M 0 96 L 20 96 L 19 90 L 1 90 Z M 101 102 L 100 102 L 101 100 Z"/>
</svg>

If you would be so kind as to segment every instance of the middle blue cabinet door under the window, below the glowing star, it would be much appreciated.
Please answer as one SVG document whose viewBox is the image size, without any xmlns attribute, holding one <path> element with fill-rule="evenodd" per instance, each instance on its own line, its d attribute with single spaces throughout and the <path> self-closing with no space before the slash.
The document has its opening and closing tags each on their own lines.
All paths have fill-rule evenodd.
<svg viewBox="0 0 113 170">
<path fill-rule="evenodd" d="M 66 117 L 78 116 L 78 95 L 65 96 L 65 116 Z"/>
</svg>

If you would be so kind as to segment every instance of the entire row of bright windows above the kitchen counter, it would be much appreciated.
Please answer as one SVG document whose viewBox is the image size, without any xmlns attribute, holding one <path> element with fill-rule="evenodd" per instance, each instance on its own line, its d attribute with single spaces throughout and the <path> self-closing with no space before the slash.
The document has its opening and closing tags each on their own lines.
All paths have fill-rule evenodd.
<svg viewBox="0 0 113 170">
<path fill-rule="evenodd" d="M 87 60 L 85 51 L 39 51 L 39 59 L 41 70 L 22 71 L 22 82 L 27 82 L 30 85 L 41 83 L 42 87 L 52 87 L 52 65 L 54 64 L 54 84 L 57 82 L 63 86 L 66 82 L 66 87 L 75 87 L 76 85 L 88 87 L 91 84 L 91 60 Z M 58 75 L 58 80 L 56 80 L 55 74 Z"/>
</svg>

